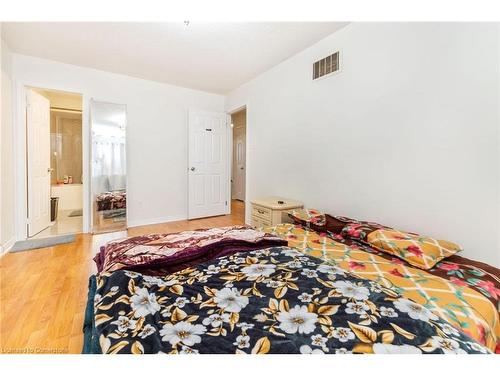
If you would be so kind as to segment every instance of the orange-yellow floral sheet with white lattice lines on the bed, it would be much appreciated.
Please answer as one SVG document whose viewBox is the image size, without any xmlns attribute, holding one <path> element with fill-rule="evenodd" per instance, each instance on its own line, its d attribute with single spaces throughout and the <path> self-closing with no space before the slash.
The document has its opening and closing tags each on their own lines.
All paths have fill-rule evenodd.
<svg viewBox="0 0 500 375">
<path fill-rule="evenodd" d="M 329 261 L 357 277 L 376 281 L 404 298 L 422 304 L 492 351 L 498 350 L 499 312 L 497 306 L 490 301 L 495 288 L 491 288 L 489 281 L 483 285 L 478 280 L 478 272 L 475 272 L 474 283 L 483 285 L 484 288 L 489 286 L 488 295 L 473 289 L 465 281 L 458 282 L 458 277 L 463 276 L 463 273 L 456 274 L 455 279 L 446 279 L 442 277 L 443 272 L 429 272 L 412 267 L 399 258 L 382 256 L 361 243 L 342 243 L 345 240 L 340 236 L 334 240 L 325 233 L 293 224 L 280 224 L 263 230 L 286 239 L 288 246 L 305 254 Z M 456 265 L 446 264 L 437 267 L 456 272 Z"/>
</svg>

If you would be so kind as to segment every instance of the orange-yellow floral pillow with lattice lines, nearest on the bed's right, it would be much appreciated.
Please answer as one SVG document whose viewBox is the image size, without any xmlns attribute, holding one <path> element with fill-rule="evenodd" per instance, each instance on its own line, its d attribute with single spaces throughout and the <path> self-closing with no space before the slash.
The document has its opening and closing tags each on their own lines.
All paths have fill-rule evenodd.
<svg viewBox="0 0 500 375">
<path fill-rule="evenodd" d="M 364 241 L 385 253 L 395 255 L 412 266 L 428 270 L 462 248 L 449 241 L 383 228 L 366 235 Z"/>
</svg>

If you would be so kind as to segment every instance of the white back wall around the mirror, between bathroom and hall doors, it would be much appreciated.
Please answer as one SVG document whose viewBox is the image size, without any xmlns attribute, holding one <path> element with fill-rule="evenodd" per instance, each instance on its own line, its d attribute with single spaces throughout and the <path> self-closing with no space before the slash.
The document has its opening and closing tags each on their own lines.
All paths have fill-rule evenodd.
<svg viewBox="0 0 500 375">
<path fill-rule="evenodd" d="M 83 94 L 87 150 L 90 99 L 126 104 L 129 226 L 187 217 L 188 108 L 223 111 L 223 96 L 19 54 L 13 55 L 13 76 L 18 112 L 24 85 Z"/>
</svg>

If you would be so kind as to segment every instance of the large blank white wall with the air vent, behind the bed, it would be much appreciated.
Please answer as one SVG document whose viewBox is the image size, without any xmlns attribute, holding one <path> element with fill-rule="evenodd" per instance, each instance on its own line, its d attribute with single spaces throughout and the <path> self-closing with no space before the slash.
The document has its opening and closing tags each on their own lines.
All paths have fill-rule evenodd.
<svg viewBox="0 0 500 375">
<path fill-rule="evenodd" d="M 343 71 L 312 82 L 337 50 Z M 449 239 L 500 266 L 499 63 L 497 24 L 346 26 L 227 96 L 227 110 L 248 105 L 247 196 Z"/>
</svg>

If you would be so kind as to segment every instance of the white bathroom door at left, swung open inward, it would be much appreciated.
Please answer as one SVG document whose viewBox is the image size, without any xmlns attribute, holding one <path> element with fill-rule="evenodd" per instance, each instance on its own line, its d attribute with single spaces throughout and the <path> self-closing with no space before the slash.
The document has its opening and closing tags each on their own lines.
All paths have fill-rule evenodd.
<svg viewBox="0 0 500 375">
<path fill-rule="evenodd" d="M 50 102 L 28 89 L 28 237 L 50 225 Z"/>
</svg>

